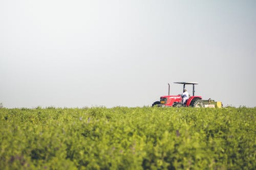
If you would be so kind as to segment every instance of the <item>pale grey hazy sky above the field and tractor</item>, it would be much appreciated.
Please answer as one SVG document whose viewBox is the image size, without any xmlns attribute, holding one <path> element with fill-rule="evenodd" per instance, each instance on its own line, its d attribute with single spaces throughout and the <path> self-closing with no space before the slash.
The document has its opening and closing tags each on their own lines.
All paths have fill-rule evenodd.
<svg viewBox="0 0 256 170">
<path fill-rule="evenodd" d="M 256 1 L 0 1 L 5 107 L 256 106 Z M 192 93 L 192 86 L 187 87 Z"/>
</svg>

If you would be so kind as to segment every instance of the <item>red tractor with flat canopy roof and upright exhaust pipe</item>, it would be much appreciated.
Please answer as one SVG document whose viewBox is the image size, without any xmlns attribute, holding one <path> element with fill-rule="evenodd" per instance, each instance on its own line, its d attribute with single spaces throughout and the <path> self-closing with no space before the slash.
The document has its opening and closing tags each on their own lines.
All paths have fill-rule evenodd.
<svg viewBox="0 0 256 170">
<path fill-rule="evenodd" d="M 160 107 L 204 107 L 204 101 L 202 101 L 202 97 L 199 95 L 195 95 L 195 84 L 196 82 L 175 82 L 178 84 L 183 84 L 183 90 L 185 89 L 186 84 L 193 85 L 193 95 L 189 95 L 189 99 L 183 104 L 182 96 L 179 95 L 170 95 L 170 85 L 168 95 L 164 95 L 160 97 L 160 101 L 154 102 L 152 106 L 160 106 Z"/>
</svg>

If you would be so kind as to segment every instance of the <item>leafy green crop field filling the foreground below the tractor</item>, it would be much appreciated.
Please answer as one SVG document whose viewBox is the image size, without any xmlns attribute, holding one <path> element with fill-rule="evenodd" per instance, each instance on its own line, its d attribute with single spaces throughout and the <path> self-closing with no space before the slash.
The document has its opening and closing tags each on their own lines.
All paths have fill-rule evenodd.
<svg viewBox="0 0 256 170">
<path fill-rule="evenodd" d="M 0 109 L 0 169 L 256 169 L 256 108 Z"/>
</svg>

